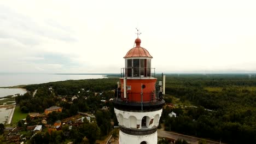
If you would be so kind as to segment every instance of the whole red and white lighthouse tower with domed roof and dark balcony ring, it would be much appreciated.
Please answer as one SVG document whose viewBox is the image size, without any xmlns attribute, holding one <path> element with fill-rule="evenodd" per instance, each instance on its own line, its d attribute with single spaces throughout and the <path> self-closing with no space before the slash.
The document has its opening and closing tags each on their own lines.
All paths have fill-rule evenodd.
<svg viewBox="0 0 256 144">
<path fill-rule="evenodd" d="M 162 82 L 156 85 L 152 56 L 141 47 L 141 39 L 124 56 L 120 82 L 113 100 L 119 123 L 119 143 L 156 144 L 162 114 Z"/>
</svg>

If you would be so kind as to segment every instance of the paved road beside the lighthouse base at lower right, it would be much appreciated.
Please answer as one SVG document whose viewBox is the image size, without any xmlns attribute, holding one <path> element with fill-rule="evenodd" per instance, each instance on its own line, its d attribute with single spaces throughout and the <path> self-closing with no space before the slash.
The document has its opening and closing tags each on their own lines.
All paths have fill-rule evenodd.
<svg viewBox="0 0 256 144">
<path fill-rule="evenodd" d="M 182 134 L 173 133 L 171 131 L 165 131 L 165 130 L 160 130 L 160 129 L 158 130 L 158 136 L 159 137 L 168 137 L 168 138 L 175 139 L 175 140 L 183 139 L 191 144 L 197 144 L 201 140 L 200 138 L 197 138 L 197 137 L 182 135 Z M 210 140 L 205 140 L 205 141 L 209 144 L 219 144 L 219 142 L 214 142 L 214 141 L 210 141 Z M 225 144 L 225 143 L 222 143 L 222 144 Z"/>
</svg>

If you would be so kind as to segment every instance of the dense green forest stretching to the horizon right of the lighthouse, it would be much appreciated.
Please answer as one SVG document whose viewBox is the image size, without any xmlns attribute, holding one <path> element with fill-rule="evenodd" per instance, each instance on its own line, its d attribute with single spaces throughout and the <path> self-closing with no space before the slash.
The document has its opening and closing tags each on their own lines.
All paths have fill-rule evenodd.
<svg viewBox="0 0 256 144">
<path fill-rule="evenodd" d="M 255 75 L 167 75 L 166 94 L 165 99 L 193 106 L 164 109 L 165 130 L 227 143 L 256 142 Z M 177 117 L 168 116 L 172 111 Z"/>
</svg>

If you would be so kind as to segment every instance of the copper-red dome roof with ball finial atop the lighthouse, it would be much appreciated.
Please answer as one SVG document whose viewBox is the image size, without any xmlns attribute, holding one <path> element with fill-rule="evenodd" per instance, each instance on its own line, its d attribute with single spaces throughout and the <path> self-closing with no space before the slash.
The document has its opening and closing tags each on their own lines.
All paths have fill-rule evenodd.
<svg viewBox="0 0 256 144">
<path fill-rule="evenodd" d="M 135 40 L 135 43 L 136 43 L 136 47 L 133 47 L 131 50 L 129 50 L 126 53 L 126 55 L 124 56 L 124 58 L 128 58 L 128 57 L 149 57 L 149 58 L 153 58 L 146 49 L 141 47 L 141 39 L 137 38 Z"/>
</svg>

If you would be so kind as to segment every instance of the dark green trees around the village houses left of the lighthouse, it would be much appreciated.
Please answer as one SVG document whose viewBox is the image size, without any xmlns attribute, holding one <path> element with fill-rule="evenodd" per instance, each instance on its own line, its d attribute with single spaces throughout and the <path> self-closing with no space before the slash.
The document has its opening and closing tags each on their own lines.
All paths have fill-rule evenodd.
<svg viewBox="0 0 256 144">
<path fill-rule="evenodd" d="M 118 125 L 113 105 L 108 101 L 110 98 L 114 98 L 114 91 L 111 90 L 115 88 L 117 80 L 68 80 L 24 87 L 28 92 L 15 98 L 16 103 L 20 105 L 21 111 L 24 113 L 44 113 L 44 110 L 48 107 L 57 105 L 62 107 L 62 112 L 49 113 L 47 116 L 49 124 L 75 116 L 78 112 L 92 113 L 96 119 L 96 123 L 85 122 L 79 127 L 72 127 L 71 130 L 63 127 L 62 130 L 54 131 L 51 135 L 47 131 L 37 133 L 28 143 L 67 143 L 69 141 L 74 143 L 95 143 L 96 140 L 108 136 L 112 131 L 110 122 L 113 121 L 115 125 Z M 49 87 L 52 87 L 53 90 L 50 91 Z M 33 95 L 36 89 L 37 92 Z M 72 100 L 74 95 L 77 96 L 77 99 Z M 64 101 L 63 98 L 65 98 Z M 107 101 L 103 103 L 101 100 Z M 102 110 L 103 106 L 109 107 L 109 111 Z M 26 118 L 26 126 L 36 125 L 41 120 L 37 118 L 30 120 L 30 116 L 28 116 Z M 18 126 L 26 130 L 22 120 L 18 122 Z M 26 133 L 26 137 L 31 136 L 31 133 Z M 86 138 L 84 139 L 84 137 Z"/>
</svg>

